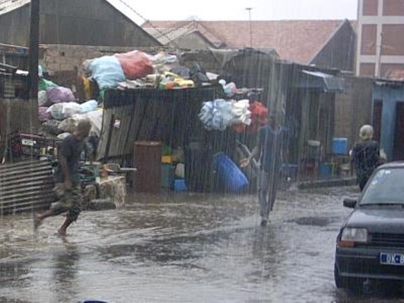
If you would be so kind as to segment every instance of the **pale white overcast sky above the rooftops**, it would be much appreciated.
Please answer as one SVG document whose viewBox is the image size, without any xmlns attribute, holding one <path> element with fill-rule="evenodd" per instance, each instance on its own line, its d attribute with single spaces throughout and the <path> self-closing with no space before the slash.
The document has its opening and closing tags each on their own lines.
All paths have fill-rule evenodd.
<svg viewBox="0 0 404 303">
<path fill-rule="evenodd" d="M 358 0 L 123 0 L 148 20 L 357 19 Z M 137 23 L 143 23 L 137 18 Z"/>
</svg>

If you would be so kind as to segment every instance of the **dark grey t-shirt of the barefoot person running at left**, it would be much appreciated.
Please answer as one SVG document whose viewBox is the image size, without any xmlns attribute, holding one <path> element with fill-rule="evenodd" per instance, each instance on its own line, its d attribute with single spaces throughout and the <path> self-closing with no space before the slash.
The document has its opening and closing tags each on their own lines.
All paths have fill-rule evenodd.
<svg viewBox="0 0 404 303">
<path fill-rule="evenodd" d="M 84 147 L 85 140 L 78 140 L 72 135 L 66 137 L 59 146 L 59 158 L 64 157 L 66 159 L 71 181 L 75 184 L 80 183 L 80 156 Z M 60 163 L 56 170 L 55 178 L 57 183 L 65 182 Z"/>
</svg>

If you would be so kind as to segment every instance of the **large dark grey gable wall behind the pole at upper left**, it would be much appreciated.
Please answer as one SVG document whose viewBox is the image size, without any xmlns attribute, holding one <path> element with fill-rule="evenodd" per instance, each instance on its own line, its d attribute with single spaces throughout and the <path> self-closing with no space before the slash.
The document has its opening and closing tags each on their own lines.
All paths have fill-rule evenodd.
<svg viewBox="0 0 404 303">
<path fill-rule="evenodd" d="M 40 43 L 157 46 L 160 43 L 105 0 L 41 1 Z M 0 43 L 28 45 L 29 5 L 0 16 Z"/>
</svg>

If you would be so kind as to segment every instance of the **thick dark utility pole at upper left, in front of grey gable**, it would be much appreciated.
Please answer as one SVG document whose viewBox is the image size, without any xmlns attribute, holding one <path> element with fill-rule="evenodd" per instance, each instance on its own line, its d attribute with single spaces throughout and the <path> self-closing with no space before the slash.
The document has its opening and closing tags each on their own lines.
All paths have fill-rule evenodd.
<svg viewBox="0 0 404 303">
<path fill-rule="evenodd" d="M 39 57 L 39 2 L 31 0 L 31 22 L 29 35 L 29 97 L 31 102 L 38 98 L 38 57 Z M 34 108 L 34 107 L 33 107 Z"/>
</svg>

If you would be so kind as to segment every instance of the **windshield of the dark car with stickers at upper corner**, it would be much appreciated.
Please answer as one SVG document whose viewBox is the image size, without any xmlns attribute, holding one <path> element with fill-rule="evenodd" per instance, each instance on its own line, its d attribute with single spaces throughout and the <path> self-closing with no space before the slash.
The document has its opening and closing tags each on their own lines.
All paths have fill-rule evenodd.
<svg viewBox="0 0 404 303">
<path fill-rule="evenodd" d="M 370 181 L 362 200 L 361 205 L 381 204 L 404 204 L 402 186 L 404 180 L 404 169 L 381 169 Z"/>
</svg>

